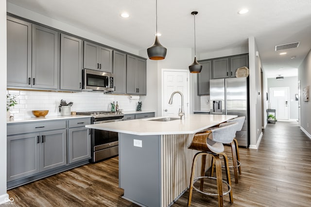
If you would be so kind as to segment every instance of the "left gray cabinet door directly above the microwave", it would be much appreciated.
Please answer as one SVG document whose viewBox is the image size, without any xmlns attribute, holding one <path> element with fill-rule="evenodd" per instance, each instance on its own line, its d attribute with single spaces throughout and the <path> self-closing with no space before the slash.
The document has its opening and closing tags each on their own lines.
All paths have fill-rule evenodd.
<svg viewBox="0 0 311 207">
<path fill-rule="evenodd" d="M 83 67 L 91 70 L 99 70 L 98 46 L 84 41 Z"/>
</svg>

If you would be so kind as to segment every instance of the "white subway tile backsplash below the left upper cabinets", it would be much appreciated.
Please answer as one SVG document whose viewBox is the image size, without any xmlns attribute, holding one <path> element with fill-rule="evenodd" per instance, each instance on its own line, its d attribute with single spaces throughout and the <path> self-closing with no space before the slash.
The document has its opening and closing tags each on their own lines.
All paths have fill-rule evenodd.
<svg viewBox="0 0 311 207">
<path fill-rule="evenodd" d="M 9 90 L 8 94 L 18 95 L 17 105 L 10 109 L 15 118 L 34 117 L 33 110 L 49 110 L 47 116 L 60 115 L 60 100 L 73 102 L 71 111 L 110 111 L 110 103 L 118 101 L 119 109 L 135 111 L 138 101 L 132 101 L 129 96 L 111 95 L 95 92 L 65 93 Z"/>
</svg>

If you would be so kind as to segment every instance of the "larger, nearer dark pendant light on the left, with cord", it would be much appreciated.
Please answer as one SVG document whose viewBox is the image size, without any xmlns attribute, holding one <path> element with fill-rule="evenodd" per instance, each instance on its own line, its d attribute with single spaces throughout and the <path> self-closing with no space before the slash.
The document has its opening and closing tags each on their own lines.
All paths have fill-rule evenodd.
<svg viewBox="0 0 311 207">
<path fill-rule="evenodd" d="M 148 57 L 151 60 L 163 60 L 166 56 L 166 48 L 164 48 L 157 38 L 157 0 L 155 0 L 155 43 L 147 49 Z"/>
</svg>

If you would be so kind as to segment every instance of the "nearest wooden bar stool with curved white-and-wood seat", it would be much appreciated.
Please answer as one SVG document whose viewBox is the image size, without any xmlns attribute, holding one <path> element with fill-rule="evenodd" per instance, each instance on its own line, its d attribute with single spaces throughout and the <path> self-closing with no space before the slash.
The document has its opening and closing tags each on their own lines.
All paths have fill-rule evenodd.
<svg viewBox="0 0 311 207">
<path fill-rule="evenodd" d="M 189 190 L 189 200 L 188 206 L 191 205 L 192 191 L 193 189 L 204 193 L 206 195 L 218 195 L 218 206 L 222 207 L 224 205 L 225 194 L 229 193 L 230 202 L 233 203 L 233 196 L 231 191 L 231 178 L 229 172 L 229 165 L 227 156 L 224 152 L 223 143 L 231 143 L 233 138 L 235 137 L 236 128 L 238 123 L 223 123 L 220 124 L 219 127 L 213 128 L 208 131 L 198 132 L 193 136 L 192 142 L 188 146 L 188 149 L 199 150 L 200 152 L 196 153 L 192 159 L 192 168 L 191 168 L 191 176 L 190 176 L 190 190 Z M 225 160 L 225 172 L 227 182 L 223 181 L 222 178 L 222 164 L 219 158 L 219 155 L 223 153 L 223 157 Z M 201 163 L 201 176 L 194 178 L 194 170 L 198 157 L 202 155 L 202 163 Z M 206 165 L 206 156 L 211 155 L 216 168 L 216 178 L 205 176 L 205 165 Z M 203 191 L 204 178 L 216 179 L 217 180 L 217 192 L 218 193 L 207 193 Z M 193 186 L 194 182 L 200 180 L 200 189 L 197 189 Z M 228 191 L 223 192 L 223 182 L 228 186 Z"/>
</svg>

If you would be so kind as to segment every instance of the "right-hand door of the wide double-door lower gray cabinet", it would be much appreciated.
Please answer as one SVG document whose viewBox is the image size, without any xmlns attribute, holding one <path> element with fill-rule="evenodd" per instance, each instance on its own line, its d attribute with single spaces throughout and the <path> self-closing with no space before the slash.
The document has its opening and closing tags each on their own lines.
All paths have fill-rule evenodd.
<svg viewBox="0 0 311 207">
<path fill-rule="evenodd" d="M 66 129 L 43 131 L 40 135 L 40 172 L 66 165 Z"/>
</svg>

